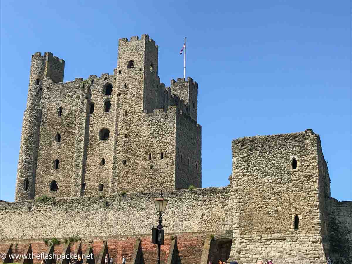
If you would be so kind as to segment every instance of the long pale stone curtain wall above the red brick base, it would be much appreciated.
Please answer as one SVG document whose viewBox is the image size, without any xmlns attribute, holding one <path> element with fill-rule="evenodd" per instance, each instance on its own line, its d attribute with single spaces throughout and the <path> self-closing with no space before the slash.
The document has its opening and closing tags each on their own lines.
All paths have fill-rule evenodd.
<svg viewBox="0 0 352 264">
<path fill-rule="evenodd" d="M 221 232 L 228 187 L 165 192 L 163 224 L 170 232 Z M 0 240 L 150 234 L 159 193 L 56 198 L 0 206 Z"/>
</svg>

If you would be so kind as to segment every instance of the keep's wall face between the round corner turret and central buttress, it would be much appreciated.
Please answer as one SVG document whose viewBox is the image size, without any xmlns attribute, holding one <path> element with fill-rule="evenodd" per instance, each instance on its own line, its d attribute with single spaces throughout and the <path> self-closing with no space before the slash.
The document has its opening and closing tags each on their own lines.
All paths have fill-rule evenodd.
<svg viewBox="0 0 352 264">
<path fill-rule="evenodd" d="M 50 78 L 43 80 L 42 122 L 40 124 L 39 150 L 36 177 L 36 197 L 71 196 L 71 181 L 74 173 L 76 114 L 80 104 L 84 104 L 84 89 L 80 80 L 67 83 L 53 83 Z M 61 116 L 59 116 L 61 108 Z M 84 121 L 84 118 L 83 118 Z M 56 142 L 57 134 L 60 142 Z M 55 160 L 59 161 L 58 169 Z M 50 190 L 55 180 L 57 191 Z"/>
</svg>

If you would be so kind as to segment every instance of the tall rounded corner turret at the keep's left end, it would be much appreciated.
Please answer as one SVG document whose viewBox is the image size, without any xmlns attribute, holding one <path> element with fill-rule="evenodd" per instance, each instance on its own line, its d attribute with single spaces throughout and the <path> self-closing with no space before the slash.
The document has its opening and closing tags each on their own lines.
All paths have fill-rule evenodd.
<svg viewBox="0 0 352 264">
<path fill-rule="evenodd" d="M 49 77 L 53 82 L 62 82 L 64 64 L 62 59 L 53 57 L 51 52 L 45 52 L 44 56 L 40 52 L 32 55 L 27 108 L 23 116 L 15 201 L 34 199 L 42 120 L 40 100 L 43 80 Z"/>
</svg>

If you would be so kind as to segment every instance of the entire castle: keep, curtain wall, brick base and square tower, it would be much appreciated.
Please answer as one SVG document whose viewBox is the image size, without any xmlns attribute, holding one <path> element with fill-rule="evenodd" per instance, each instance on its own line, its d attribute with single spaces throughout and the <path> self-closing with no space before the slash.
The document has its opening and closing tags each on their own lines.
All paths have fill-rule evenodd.
<svg viewBox="0 0 352 264">
<path fill-rule="evenodd" d="M 160 189 L 163 264 L 352 261 L 352 202 L 331 197 L 312 129 L 233 140 L 230 184 L 201 188 L 198 84 L 160 83 L 149 36 L 119 40 L 113 75 L 63 82 L 64 63 L 32 56 L 15 202 L 0 201 L 3 263 L 39 263 L 10 256 L 42 252 L 155 263 Z"/>
</svg>

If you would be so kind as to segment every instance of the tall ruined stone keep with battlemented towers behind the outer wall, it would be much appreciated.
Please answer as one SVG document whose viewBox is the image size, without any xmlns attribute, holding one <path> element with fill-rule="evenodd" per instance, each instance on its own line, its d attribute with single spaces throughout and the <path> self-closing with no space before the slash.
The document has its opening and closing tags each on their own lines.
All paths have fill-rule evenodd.
<svg viewBox="0 0 352 264">
<path fill-rule="evenodd" d="M 165 88 L 148 35 L 119 40 L 114 75 L 63 74 L 50 52 L 32 56 L 15 201 L 201 187 L 198 84 Z"/>
</svg>

